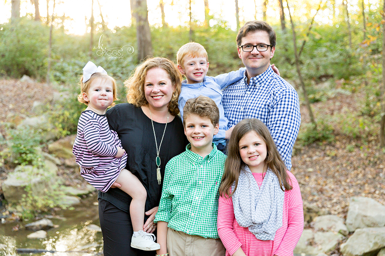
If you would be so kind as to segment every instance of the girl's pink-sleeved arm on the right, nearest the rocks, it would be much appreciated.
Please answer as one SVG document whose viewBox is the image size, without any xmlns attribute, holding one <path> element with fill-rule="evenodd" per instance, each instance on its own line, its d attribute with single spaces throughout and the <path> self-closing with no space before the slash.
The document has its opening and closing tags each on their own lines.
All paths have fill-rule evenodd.
<svg viewBox="0 0 385 256">
<path fill-rule="evenodd" d="M 289 209 L 287 217 L 287 230 L 274 254 L 278 256 L 293 255 L 293 251 L 303 231 L 303 206 L 301 191 L 298 181 L 291 172 L 288 172 L 291 179 L 292 190 L 289 190 Z"/>
</svg>

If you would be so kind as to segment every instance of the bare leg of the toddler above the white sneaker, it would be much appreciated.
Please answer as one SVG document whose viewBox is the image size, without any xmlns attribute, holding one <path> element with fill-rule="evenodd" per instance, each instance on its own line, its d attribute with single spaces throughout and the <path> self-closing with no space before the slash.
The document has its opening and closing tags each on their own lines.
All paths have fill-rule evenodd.
<svg viewBox="0 0 385 256">
<path fill-rule="evenodd" d="M 147 191 L 139 179 L 129 170 L 122 169 L 116 182 L 121 185 L 121 190 L 132 197 L 130 204 L 130 215 L 132 228 L 134 231 L 143 230 L 144 225 L 144 205 L 146 202 Z"/>
</svg>

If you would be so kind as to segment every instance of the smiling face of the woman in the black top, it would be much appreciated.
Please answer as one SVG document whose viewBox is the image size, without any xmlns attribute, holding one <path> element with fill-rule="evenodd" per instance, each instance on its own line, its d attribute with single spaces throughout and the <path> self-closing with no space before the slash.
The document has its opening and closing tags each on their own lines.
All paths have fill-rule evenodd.
<svg viewBox="0 0 385 256">
<path fill-rule="evenodd" d="M 159 111 L 167 109 L 173 89 L 174 85 L 164 69 L 152 68 L 147 71 L 143 90 L 150 109 Z"/>
</svg>

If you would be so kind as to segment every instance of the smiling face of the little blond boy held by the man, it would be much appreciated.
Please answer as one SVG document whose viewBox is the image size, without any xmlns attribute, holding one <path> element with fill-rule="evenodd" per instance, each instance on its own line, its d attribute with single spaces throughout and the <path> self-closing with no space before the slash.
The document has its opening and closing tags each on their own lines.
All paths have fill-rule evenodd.
<svg viewBox="0 0 385 256">
<path fill-rule="evenodd" d="M 178 65 L 178 69 L 186 77 L 187 84 L 197 84 L 203 82 L 209 70 L 209 63 L 206 57 L 186 56 L 183 65 Z"/>
</svg>

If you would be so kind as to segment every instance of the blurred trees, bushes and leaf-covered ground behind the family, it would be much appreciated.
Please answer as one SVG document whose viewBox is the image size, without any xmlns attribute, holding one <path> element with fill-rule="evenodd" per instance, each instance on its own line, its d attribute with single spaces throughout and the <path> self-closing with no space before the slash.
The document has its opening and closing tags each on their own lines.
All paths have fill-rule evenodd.
<svg viewBox="0 0 385 256">
<path fill-rule="evenodd" d="M 272 63 L 300 96 L 302 124 L 292 171 L 304 200 L 339 215 L 346 214 L 352 195 L 385 202 L 382 1 L 130 0 L 122 15 L 127 24 L 112 27 L 111 17 L 119 17 L 107 7 L 123 2 L 80 0 L 71 8 L 83 12 L 81 35 L 74 34 L 80 25 L 63 13 L 70 1 L 1 1 L 3 11 L 11 14 L 0 24 L 0 87 L 5 92 L 0 132 L 6 138 L 0 144 L 1 168 L 39 161 L 36 146 L 44 150 L 45 144 L 38 131 L 19 132 L 7 123 L 10 113 L 30 114 L 21 106 L 34 97 L 48 99 L 50 90 L 62 93 L 65 101 L 46 101 L 47 113 L 58 137 L 76 133 L 85 108 L 76 99 L 77 82 L 88 61 L 117 79 L 120 102 L 125 102 L 123 81 L 141 60 L 175 60 L 179 47 L 190 41 L 206 48 L 210 76 L 243 67 L 236 50 L 237 30 L 258 19 L 275 29 Z M 23 75 L 33 78 L 34 86 L 18 87 Z M 24 149 L 15 146 L 21 144 Z M 6 148 L 20 156 L 16 162 L 4 160 Z"/>
</svg>

